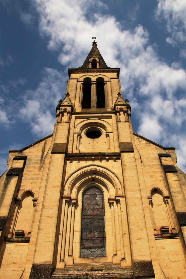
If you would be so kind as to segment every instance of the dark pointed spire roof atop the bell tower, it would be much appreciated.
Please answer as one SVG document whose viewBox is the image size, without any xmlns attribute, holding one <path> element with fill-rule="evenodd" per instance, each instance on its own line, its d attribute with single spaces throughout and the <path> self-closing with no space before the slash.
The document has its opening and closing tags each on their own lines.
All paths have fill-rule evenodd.
<svg viewBox="0 0 186 279">
<path fill-rule="evenodd" d="M 88 61 L 89 59 L 92 57 L 92 56 L 96 56 L 100 59 L 100 67 L 99 69 L 112 69 L 110 67 L 107 66 L 107 64 L 105 63 L 102 55 L 100 54 L 98 48 L 97 48 L 97 43 L 95 41 L 93 41 L 92 43 L 92 48 L 91 48 L 91 51 L 89 52 L 88 56 L 86 57 L 83 65 L 77 69 L 89 69 L 89 64 L 88 64 Z"/>
</svg>

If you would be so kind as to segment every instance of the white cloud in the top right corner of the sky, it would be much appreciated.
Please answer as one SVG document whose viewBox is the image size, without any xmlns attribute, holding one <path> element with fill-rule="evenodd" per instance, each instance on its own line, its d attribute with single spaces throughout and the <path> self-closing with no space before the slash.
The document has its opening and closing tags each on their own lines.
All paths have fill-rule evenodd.
<svg viewBox="0 0 186 279">
<path fill-rule="evenodd" d="M 172 46 L 186 42 L 186 4 L 185 0 L 157 0 L 156 19 L 166 21 L 167 31 L 171 37 L 166 42 Z M 182 50 L 180 52 L 182 57 Z"/>
</svg>

